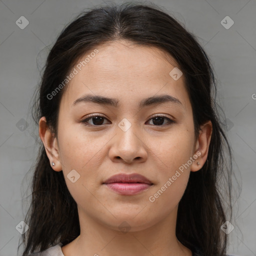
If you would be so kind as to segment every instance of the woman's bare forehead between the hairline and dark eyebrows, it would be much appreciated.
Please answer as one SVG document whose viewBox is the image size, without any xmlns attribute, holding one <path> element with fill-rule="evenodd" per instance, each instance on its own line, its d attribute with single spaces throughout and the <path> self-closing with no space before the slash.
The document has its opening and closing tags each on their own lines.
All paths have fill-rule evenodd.
<svg viewBox="0 0 256 256">
<path fill-rule="evenodd" d="M 174 80 L 169 75 L 177 64 L 161 49 L 125 40 L 109 42 L 96 49 L 96 54 L 92 54 L 94 49 L 86 52 L 73 67 L 77 73 L 61 99 L 69 107 L 88 92 L 120 98 L 130 104 L 157 93 L 168 93 L 187 107 L 189 99 L 183 76 Z"/>
</svg>

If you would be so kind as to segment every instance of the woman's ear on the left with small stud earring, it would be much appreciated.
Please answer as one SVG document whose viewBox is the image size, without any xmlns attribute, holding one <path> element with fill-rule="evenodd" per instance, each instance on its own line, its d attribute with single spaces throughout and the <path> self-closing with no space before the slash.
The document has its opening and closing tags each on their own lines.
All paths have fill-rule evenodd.
<svg viewBox="0 0 256 256">
<path fill-rule="evenodd" d="M 62 170 L 62 166 L 59 158 L 59 150 L 57 144 L 57 138 L 52 134 L 50 128 L 47 125 L 45 116 L 41 117 L 39 120 L 39 136 L 43 142 L 46 154 L 49 158 L 49 164 L 55 171 Z M 55 165 L 52 166 L 51 162 Z"/>
</svg>

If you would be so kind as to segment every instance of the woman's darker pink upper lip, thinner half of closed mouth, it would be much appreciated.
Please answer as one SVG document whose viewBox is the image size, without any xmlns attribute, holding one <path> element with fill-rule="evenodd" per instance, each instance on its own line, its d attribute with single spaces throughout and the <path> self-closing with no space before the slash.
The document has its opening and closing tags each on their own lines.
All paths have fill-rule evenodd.
<svg viewBox="0 0 256 256">
<path fill-rule="evenodd" d="M 131 173 L 131 174 L 125 174 L 125 173 L 118 173 L 110 178 L 106 179 L 103 184 L 109 184 L 109 183 L 146 183 L 146 184 L 153 184 L 149 179 L 147 179 L 145 176 L 140 175 L 138 173 Z"/>
</svg>

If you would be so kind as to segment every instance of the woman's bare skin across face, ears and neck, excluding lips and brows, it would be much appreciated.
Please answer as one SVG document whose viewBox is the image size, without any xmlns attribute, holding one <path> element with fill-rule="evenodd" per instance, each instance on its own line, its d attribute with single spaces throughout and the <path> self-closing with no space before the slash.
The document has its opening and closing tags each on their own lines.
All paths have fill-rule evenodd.
<svg viewBox="0 0 256 256">
<path fill-rule="evenodd" d="M 162 50 L 125 40 L 97 49 L 61 98 L 58 136 L 51 134 L 45 117 L 39 121 L 49 164 L 54 161 L 53 171 L 63 171 L 77 203 L 81 232 L 62 246 L 62 252 L 65 256 L 191 256 L 175 235 L 177 207 L 190 171 L 198 171 L 206 161 L 212 124 L 201 125 L 195 140 L 183 75 L 172 79 L 169 72 L 177 65 Z M 93 102 L 72 106 L 85 93 L 117 98 L 120 106 Z M 137 107 L 141 99 L 161 94 L 178 98 L 183 107 L 172 102 Z M 101 126 L 95 119 L 88 120 L 91 126 L 80 122 L 92 113 L 105 117 Z M 157 125 L 152 117 L 158 114 L 175 122 L 168 124 L 168 119 L 163 119 Z M 123 118 L 131 124 L 127 131 L 118 127 Z M 198 151 L 200 156 L 154 202 L 149 201 L 149 196 Z M 72 169 L 80 175 L 74 183 L 67 178 Z M 120 195 L 102 185 L 116 173 L 139 173 L 153 185 L 136 195 Z M 119 229 L 123 221 L 130 227 L 127 232 Z"/>
</svg>

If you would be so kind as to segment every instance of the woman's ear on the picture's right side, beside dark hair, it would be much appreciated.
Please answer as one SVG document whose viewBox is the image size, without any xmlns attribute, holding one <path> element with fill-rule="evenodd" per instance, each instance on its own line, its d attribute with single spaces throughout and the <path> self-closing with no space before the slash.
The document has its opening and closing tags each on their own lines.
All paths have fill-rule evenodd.
<svg viewBox="0 0 256 256">
<path fill-rule="evenodd" d="M 205 163 L 208 155 L 211 133 L 212 123 L 210 120 L 200 125 L 199 136 L 198 139 L 195 141 L 195 148 L 192 156 L 195 160 L 191 164 L 191 171 L 197 171 L 201 169 L 201 167 Z M 199 165 L 197 165 L 197 162 L 199 162 Z"/>
</svg>

